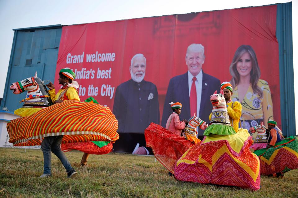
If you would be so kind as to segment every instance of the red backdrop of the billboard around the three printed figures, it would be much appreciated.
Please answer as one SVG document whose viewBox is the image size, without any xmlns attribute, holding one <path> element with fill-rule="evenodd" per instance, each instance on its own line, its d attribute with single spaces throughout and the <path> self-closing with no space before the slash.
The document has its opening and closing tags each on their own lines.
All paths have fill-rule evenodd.
<svg viewBox="0 0 298 198">
<path fill-rule="evenodd" d="M 273 5 L 64 26 L 54 84 L 60 87 L 58 72 L 62 68 L 83 69 L 83 78 L 77 75 L 76 79 L 81 85 L 81 101 L 92 96 L 112 110 L 117 86 L 131 79 L 131 58 L 141 53 L 147 59 L 144 80 L 158 90 L 161 119 L 169 80 L 187 72 L 185 54 L 190 44 L 205 47 L 202 69 L 221 82 L 231 80 L 229 66 L 236 49 L 251 45 L 260 79 L 266 80 L 271 90 L 274 120 L 281 127 L 276 12 Z M 78 58 L 83 53 L 84 58 Z M 103 56 L 108 56 L 104 62 Z M 98 76 L 99 71 L 104 75 Z"/>
</svg>

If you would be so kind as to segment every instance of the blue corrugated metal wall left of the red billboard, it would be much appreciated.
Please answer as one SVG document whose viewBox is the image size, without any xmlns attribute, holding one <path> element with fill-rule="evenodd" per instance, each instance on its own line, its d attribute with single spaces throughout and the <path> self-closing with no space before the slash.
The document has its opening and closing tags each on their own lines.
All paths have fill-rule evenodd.
<svg viewBox="0 0 298 198">
<path fill-rule="evenodd" d="M 40 79 L 53 82 L 61 33 L 61 25 L 15 30 L 1 109 L 6 106 L 14 111 L 26 97 L 13 94 L 11 83 L 34 76 L 35 71 Z"/>
</svg>

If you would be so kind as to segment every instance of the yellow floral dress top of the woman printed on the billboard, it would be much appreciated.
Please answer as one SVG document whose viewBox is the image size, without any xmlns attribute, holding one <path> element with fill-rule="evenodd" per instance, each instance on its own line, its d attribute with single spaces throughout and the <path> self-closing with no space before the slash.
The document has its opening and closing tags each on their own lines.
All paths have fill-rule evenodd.
<svg viewBox="0 0 298 198">
<path fill-rule="evenodd" d="M 243 101 L 239 101 L 238 88 L 234 87 L 232 101 L 239 101 L 242 104 L 242 116 L 241 120 L 255 120 L 263 119 L 264 125 L 267 128 L 267 122 L 273 119 L 273 105 L 271 92 L 268 82 L 265 80 L 259 80 L 257 84 L 263 90 L 263 97 L 256 99 L 258 95 L 254 93 L 251 85 L 249 86 Z"/>
</svg>

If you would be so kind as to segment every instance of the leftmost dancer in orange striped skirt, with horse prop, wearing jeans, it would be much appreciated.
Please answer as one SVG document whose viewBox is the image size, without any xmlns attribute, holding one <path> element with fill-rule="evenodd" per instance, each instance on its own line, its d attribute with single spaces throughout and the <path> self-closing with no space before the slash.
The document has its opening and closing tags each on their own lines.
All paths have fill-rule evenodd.
<svg viewBox="0 0 298 198">
<path fill-rule="evenodd" d="M 75 75 L 69 68 L 62 69 L 59 75 L 59 82 L 63 87 L 57 94 L 55 94 L 52 83 L 47 85 L 50 89 L 48 92 L 36 73 L 34 77 L 11 84 L 10 89 L 14 94 L 25 91 L 28 93 L 26 94 L 27 97 L 20 101 L 20 103 L 24 102 L 24 105 L 15 110 L 15 114 L 21 118 L 7 123 L 9 142 L 14 146 L 42 145 L 45 148 L 48 145 L 43 144 L 48 139 L 61 136 L 62 151 L 76 149 L 88 154 L 109 153 L 112 144 L 119 138 L 116 132 L 118 121 L 115 115 L 108 107 L 95 104 L 97 102 L 94 99 L 92 99 L 94 102 L 90 101 L 90 98 L 85 102 L 80 102 L 76 90 L 79 85 L 72 80 L 75 79 Z M 63 79 L 65 82 L 62 82 Z M 53 102 L 55 105 L 51 105 Z M 57 140 L 55 139 L 55 141 Z M 54 147 L 55 145 L 52 143 L 50 142 Z M 58 141 L 59 145 L 56 147 L 60 148 L 60 143 Z M 47 160 L 45 160 L 45 165 L 47 165 L 45 166 L 45 174 L 42 177 L 51 175 L 49 159 L 51 150 L 53 153 L 56 152 L 50 146 Z M 60 151 L 56 153 L 59 155 Z M 63 155 L 61 156 L 63 158 Z M 84 157 L 87 160 L 88 156 L 84 154 L 82 161 Z M 67 159 L 66 162 L 65 158 L 61 161 L 66 163 L 65 169 L 69 170 L 70 166 L 67 166 Z M 74 172 L 72 170 L 68 177 L 75 175 Z"/>
</svg>

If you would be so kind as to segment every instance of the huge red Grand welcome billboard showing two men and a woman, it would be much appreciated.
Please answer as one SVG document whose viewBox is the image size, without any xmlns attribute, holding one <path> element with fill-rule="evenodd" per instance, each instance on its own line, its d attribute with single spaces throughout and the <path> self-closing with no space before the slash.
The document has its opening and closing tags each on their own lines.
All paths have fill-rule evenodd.
<svg viewBox="0 0 298 198">
<path fill-rule="evenodd" d="M 195 112 L 208 123 L 224 81 L 242 103 L 242 127 L 281 127 L 276 13 L 272 5 L 64 26 L 54 84 L 70 67 L 81 101 L 111 108 L 125 147 L 144 146 L 151 122 L 165 127 L 169 102 L 182 103 L 180 120 Z"/>
</svg>

